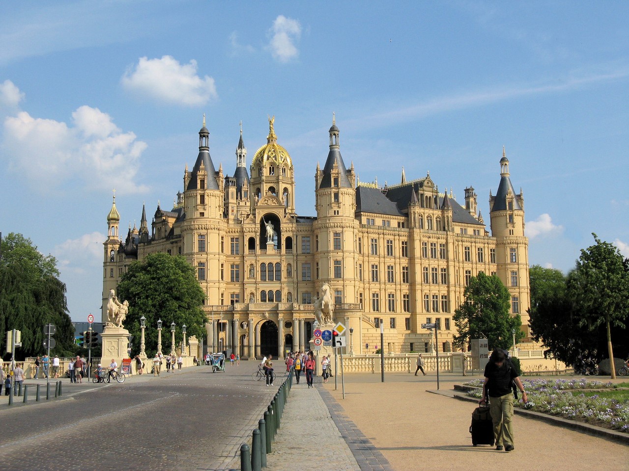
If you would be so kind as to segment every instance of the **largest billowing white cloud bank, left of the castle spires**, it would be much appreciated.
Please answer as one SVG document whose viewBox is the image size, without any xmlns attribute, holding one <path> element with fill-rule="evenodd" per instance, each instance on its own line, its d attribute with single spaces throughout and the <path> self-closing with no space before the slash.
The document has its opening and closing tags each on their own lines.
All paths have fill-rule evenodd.
<svg viewBox="0 0 629 471">
<path fill-rule="evenodd" d="M 70 178 L 87 187 L 121 193 L 147 190 L 135 178 L 147 144 L 122 133 L 111 117 L 82 106 L 72 113 L 74 126 L 19 111 L 4 119 L 3 153 L 9 169 L 21 173 L 42 191 Z"/>
</svg>

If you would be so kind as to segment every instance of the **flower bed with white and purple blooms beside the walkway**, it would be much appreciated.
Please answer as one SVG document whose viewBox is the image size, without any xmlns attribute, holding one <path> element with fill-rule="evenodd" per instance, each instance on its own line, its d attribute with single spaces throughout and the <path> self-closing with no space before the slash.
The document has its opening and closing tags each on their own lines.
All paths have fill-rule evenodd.
<svg viewBox="0 0 629 471">
<path fill-rule="evenodd" d="M 598 396 L 586 397 L 585 394 L 574 396 L 575 389 L 614 389 L 618 384 L 612 382 L 591 381 L 589 379 L 521 379 L 526 389 L 528 402 L 520 398 L 515 406 L 544 414 L 578 420 L 613 430 L 629 433 L 629 401 L 604 399 Z M 482 388 L 482 379 L 465 382 L 465 386 Z M 481 398 L 482 389 L 473 389 L 467 393 L 474 398 Z"/>
</svg>

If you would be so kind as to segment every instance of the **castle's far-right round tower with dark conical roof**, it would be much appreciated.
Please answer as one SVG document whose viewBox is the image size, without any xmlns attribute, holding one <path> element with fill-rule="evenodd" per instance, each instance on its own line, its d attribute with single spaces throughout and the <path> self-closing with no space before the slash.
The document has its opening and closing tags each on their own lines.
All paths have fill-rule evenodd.
<svg viewBox="0 0 629 471">
<path fill-rule="evenodd" d="M 520 314 L 522 330 L 530 340 L 528 314 L 530 288 L 528 280 L 528 238 L 524 235 L 524 197 L 516 194 L 509 178 L 509 160 L 503 148 L 500 160 L 500 183 L 496 196 L 489 197 L 491 234 L 496 237 L 498 277 L 511 293 L 511 313 Z"/>
</svg>

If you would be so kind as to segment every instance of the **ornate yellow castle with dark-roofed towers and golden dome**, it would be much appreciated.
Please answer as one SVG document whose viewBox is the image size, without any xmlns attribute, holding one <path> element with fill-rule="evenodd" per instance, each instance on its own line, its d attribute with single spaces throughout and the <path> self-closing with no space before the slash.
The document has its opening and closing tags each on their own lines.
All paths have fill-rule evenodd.
<svg viewBox="0 0 629 471">
<path fill-rule="evenodd" d="M 103 306 L 129 264 L 167 252 L 196 268 L 206 293 L 209 350 L 232 349 L 247 358 L 308 349 L 313 302 L 328 284 L 333 320 L 347 327 L 353 354 L 382 346 L 381 324 L 385 352 L 448 351 L 454 310 L 482 271 L 508 287 L 511 313 L 520 314 L 530 342 L 524 198 L 511 185 L 504 148 L 498 190 L 489 197 L 490 232 L 474 188 L 465 188 L 460 205 L 430 174 L 406 180 L 402 169 L 397 185 L 359 183 L 353 163 L 347 168 L 341 156 L 335 119 L 329 134 L 325 165 L 315 170 L 316 217 L 300 216 L 294 165 L 278 143 L 274 117 L 249 171 L 241 127 L 233 176 L 214 166 L 204 117 L 198 157 L 192 170 L 186 165 L 172 209 L 158 203 L 149 228 L 143 206 L 140 229 L 130 225 L 123 240 L 114 195 Z M 103 322 L 106 316 L 105 307 Z M 438 346 L 432 331 L 421 328 L 434 322 Z"/>
</svg>

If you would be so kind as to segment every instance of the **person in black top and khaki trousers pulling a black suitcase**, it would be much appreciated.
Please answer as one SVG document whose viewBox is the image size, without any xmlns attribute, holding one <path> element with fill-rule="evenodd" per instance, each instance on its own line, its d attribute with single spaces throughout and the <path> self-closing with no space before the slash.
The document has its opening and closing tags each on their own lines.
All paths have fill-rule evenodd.
<svg viewBox="0 0 629 471">
<path fill-rule="evenodd" d="M 496 349 L 491 353 L 489 362 L 485 367 L 485 382 L 482 385 L 482 399 L 479 404 L 485 403 L 489 399 L 489 410 L 491 420 L 494 425 L 494 437 L 496 438 L 496 450 L 511 452 L 513 446 L 513 399 L 511 382 L 515 382 L 516 387 L 522 393 L 522 400 L 526 403 L 526 392 L 520 381 L 518 372 L 511 364 L 511 360 L 506 357 L 504 350 Z"/>
</svg>

